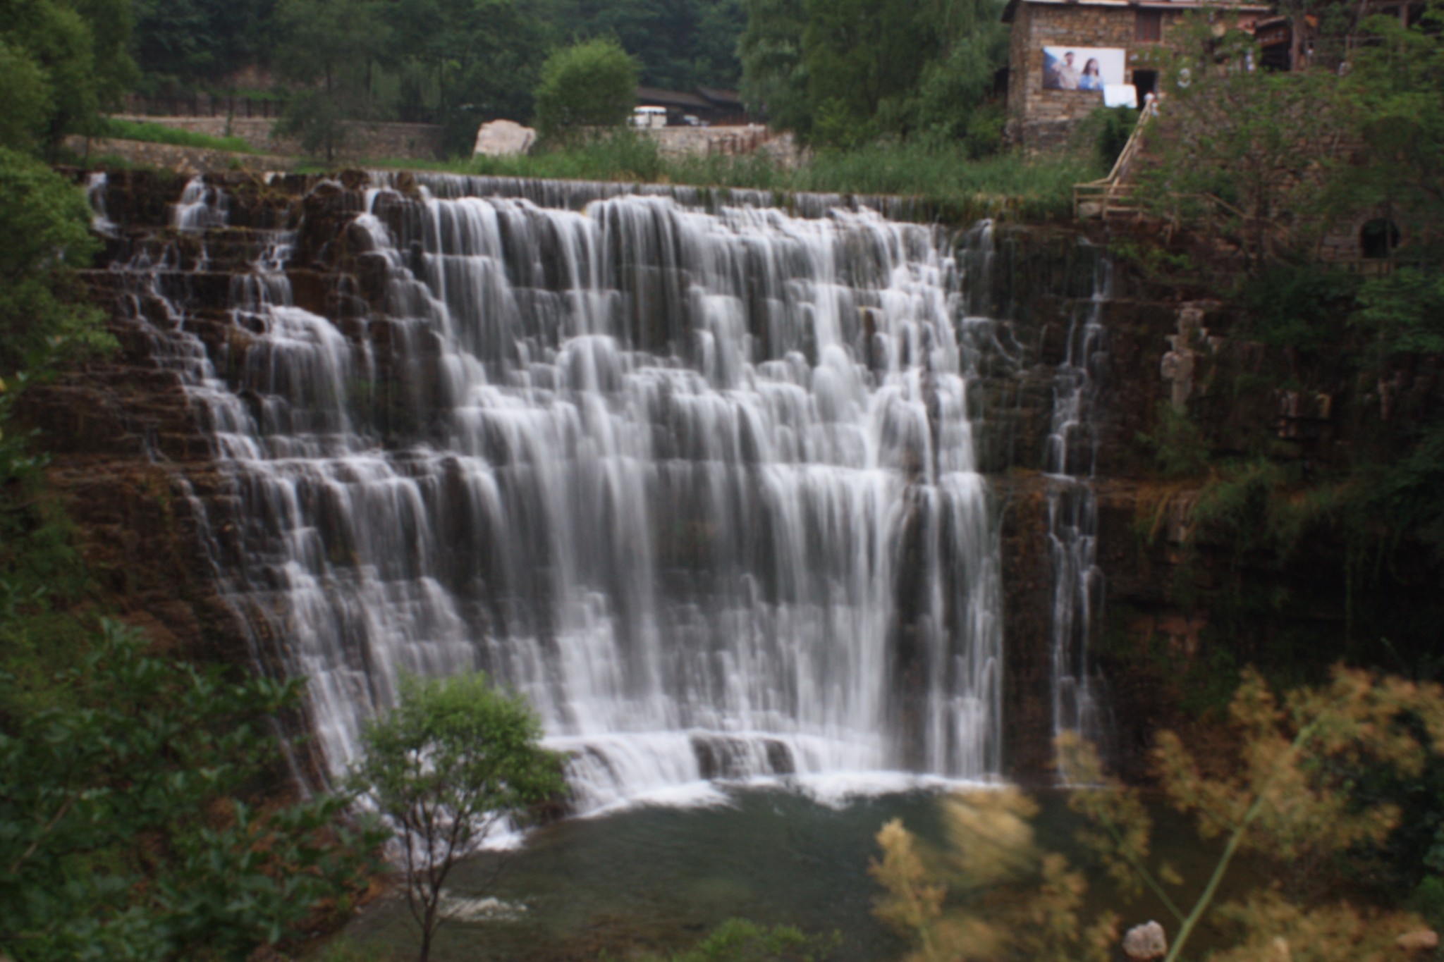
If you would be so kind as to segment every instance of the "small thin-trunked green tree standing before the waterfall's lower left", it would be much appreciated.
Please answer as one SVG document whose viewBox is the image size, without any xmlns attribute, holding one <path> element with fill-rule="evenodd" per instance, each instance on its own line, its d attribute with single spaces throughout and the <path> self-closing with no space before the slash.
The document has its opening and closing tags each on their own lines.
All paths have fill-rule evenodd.
<svg viewBox="0 0 1444 962">
<path fill-rule="evenodd" d="M 540 738 L 526 698 L 494 688 L 481 672 L 406 676 L 400 704 L 367 727 L 354 785 L 400 834 L 422 962 L 445 920 L 442 888 L 456 861 L 497 822 L 562 789 L 560 759 Z"/>
</svg>

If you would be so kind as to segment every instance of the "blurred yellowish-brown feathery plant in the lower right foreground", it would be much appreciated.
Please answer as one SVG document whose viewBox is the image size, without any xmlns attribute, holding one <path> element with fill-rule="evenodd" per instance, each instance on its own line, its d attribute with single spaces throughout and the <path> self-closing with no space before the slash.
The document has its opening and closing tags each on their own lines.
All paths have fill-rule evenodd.
<svg viewBox="0 0 1444 962">
<path fill-rule="evenodd" d="M 1399 824 L 1398 805 L 1365 798 L 1359 789 L 1382 769 L 1418 777 L 1431 753 L 1444 753 L 1444 689 L 1339 668 L 1328 685 L 1302 688 L 1279 701 L 1256 672 L 1248 671 L 1229 712 L 1239 760 L 1226 775 L 1204 773 L 1171 731 L 1160 733 L 1154 750 L 1168 802 L 1197 816 L 1200 835 L 1223 839 L 1219 860 L 1191 904 L 1178 897 L 1178 873 L 1151 857 L 1152 821 L 1138 793 L 1103 775 L 1092 746 L 1064 738 L 1060 747 L 1067 770 L 1092 786 L 1070 798 L 1070 806 L 1090 822 L 1080 841 L 1125 891 L 1147 887 L 1165 906 L 1173 923 L 1167 962 L 1186 958 L 1190 937 L 1210 914 L 1236 935 L 1232 948 L 1210 956 L 1216 962 L 1386 958 L 1395 939 L 1419 927 L 1419 920 L 1331 903 L 1321 897 L 1317 881 L 1330 860 L 1382 844 Z M 879 899 L 877 914 L 917 939 L 921 948 L 911 958 L 1073 959 L 1084 956 L 1064 956 L 1054 946 L 1077 952 L 1066 948 L 1077 942 L 1097 949 L 1096 936 L 1079 933 L 1082 878 L 1061 871 L 1060 855 L 1040 862 L 1031 829 L 1025 832 L 1027 826 L 1014 821 L 1031 811 L 1014 795 L 998 793 L 991 803 L 976 796 L 949 800 L 950 847 L 931 862 L 914 854 L 913 837 L 897 822 L 878 834 L 885 860 L 872 871 L 888 894 Z M 965 818 L 967 808 L 992 813 Z M 1305 884 L 1275 884 L 1216 904 L 1219 886 L 1240 851 L 1307 875 L 1294 880 Z M 1051 877 L 1048 860 L 1057 860 Z M 1031 888 L 1006 893 L 1005 887 L 1018 887 L 1030 877 Z M 982 899 L 976 888 L 959 890 L 967 880 L 983 883 Z M 1066 883 L 1063 899 L 1057 897 L 1060 883 Z M 986 910 L 986 899 L 1004 896 L 1017 923 L 989 927 L 998 916 Z M 944 907 L 944 901 L 952 904 Z M 1038 939 L 1048 942 L 1035 945 Z"/>
</svg>

